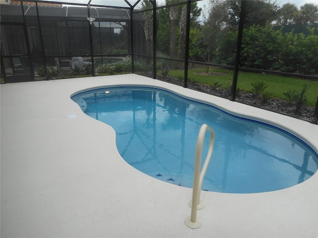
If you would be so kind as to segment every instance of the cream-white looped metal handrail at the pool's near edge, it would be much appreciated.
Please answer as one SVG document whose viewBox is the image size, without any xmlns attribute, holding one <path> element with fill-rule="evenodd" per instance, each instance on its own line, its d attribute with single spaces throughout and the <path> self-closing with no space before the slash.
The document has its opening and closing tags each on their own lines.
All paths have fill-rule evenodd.
<svg viewBox="0 0 318 238">
<path fill-rule="evenodd" d="M 209 151 L 201 170 L 202 148 L 203 148 L 205 133 L 207 130 L 211 133 Z M 210 163 L 210 159 L 213 152 L 214 137 L 215 137 L 214 129 L 208 126 L 207 124 L 203 124 L 199 131 L 197 146 L 195 151 L 192 200 L 189 202 L 189 205 L 191 207 L 191 216 L 186 217 L 184 220 L 185 224 L 192 229 L 199 228 L 202 225 L 202 222 L 200 221 L 200 219 L 197 218 L 197 210 L 202 209 L 204 207 L 204 203 L 200 201 L 200 194 L 201 194 L 203 179 L 207 171 L 208 165 Z"/>
</svg>

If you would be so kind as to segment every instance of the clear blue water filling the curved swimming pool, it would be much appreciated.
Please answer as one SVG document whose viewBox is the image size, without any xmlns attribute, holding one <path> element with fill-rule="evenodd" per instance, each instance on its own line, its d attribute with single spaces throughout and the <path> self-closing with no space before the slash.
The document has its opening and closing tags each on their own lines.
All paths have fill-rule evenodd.
<svg viewBox="0 0 318 238">
<path fill-rule="evenodd" d="M 72 99 L 86 115 L 115 129 L 118 151 L 128 164 L 176 185 L 192 187 L 196 141 L 203 123 L 215 130 L 203 190 L 279 190 L 309 179 L 318 169 L 318 154 L 293 134 L 165 90 L 102 88 Z M 207 132 L 203 160 L 209 136 Z"/>
</svg>

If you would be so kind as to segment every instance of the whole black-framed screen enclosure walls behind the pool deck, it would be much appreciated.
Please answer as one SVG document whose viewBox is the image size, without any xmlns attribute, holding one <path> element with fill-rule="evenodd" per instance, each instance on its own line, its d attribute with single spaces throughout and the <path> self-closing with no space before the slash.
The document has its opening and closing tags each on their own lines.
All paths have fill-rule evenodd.
<svg viewBox="0 0 318 238">
<path fill-rule="evenodd" d="M 137 73 L 232 101 L 244 92 L 295 105 L 303 90 L 306 119 L 317 122 L 315 1 L 0 3 L 1 83 Z"/>
</svg>

